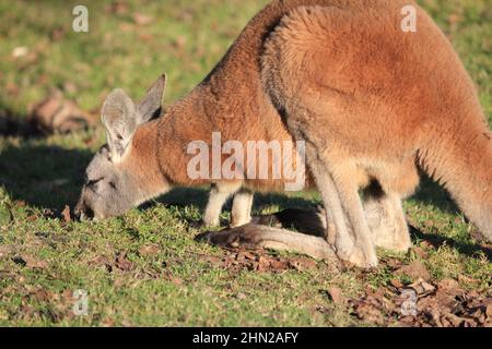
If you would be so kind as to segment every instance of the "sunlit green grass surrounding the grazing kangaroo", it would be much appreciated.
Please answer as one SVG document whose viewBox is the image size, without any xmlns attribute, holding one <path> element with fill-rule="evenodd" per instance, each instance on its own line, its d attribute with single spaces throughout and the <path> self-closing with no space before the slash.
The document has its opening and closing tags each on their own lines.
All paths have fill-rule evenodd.
<svg viewBox="0 0 492 349">
<path fill-rule="evenodd" d="M 134 97 L 162 73 L 166 103 L 191 89 L 266 3 L 244 0 L 89 1 L 90 33 L 71 28 L 71 1 L 0 3 L 0 110 L 24 120 L 30 106 L 52 87 L 87 110 L 114 87 Z M 488 0 L 422 0 L 453 40 L 492 117 L 492 8 Z M 74 4 L 74 2 L 73 2 Z M 113 7 L 114 9 L 114 7 Z M 121 10 L 122 9 L 122 10 Z M 136 13 L 153 20 L 137 25 Z M 25 46 L 20 59 L 12 51 Z M 387 265 L 372 273 L 337 273 L 318 263 L 305 270 L 251 272 L 224 267 L 227 252 L 194 241 L 204 190 L 179 189 L 124 217 L 66 222 L 82 173 L 103 144 L 101 129 L 45 139 L 0 137 L 0 325 L 372 325 L 330 301 L 337 285 L 361 297 L 398 278 Z M 263 195 L 256 213 L 308 206 L 315 194 Z M 406 203 L 425 249 L 394 257 L 422 260 L 433 280 L 457 279 L 491 297 L 491 251 L 445 192 L 424 180 Z M 227 213 L 224 213 L 227 218 Z M 433 241 L 435 248 L 425 244 Z M 153 252 L 145 252 L 152 250 Z M 272 253 L 272 252 L 271 252 Z M 280 254 L 284 258 L 295 256 Z M 401 280 L 409 282 L 408 277 Z M 89 292 L 89 314 L 72 312 L 72 292 Z"/>
</svg>

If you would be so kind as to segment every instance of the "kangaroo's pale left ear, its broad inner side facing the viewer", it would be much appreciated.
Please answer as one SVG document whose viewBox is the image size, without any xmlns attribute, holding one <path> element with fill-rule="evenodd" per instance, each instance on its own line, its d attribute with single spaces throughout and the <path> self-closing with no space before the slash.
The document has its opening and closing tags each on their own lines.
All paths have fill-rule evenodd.
<svg viewBox="0 0 492 349">
<path fill-rule="evenodd" d="M 112 159 L 117 161 L 125 154 L 140 116 L 133 101 L 120 88 L 107 96 L 102 115 Z"/>
</svg>

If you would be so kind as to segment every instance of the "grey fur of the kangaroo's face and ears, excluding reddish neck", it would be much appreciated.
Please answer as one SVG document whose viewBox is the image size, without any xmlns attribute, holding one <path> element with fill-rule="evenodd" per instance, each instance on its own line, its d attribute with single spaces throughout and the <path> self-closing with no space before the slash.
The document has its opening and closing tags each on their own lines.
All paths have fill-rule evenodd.
<svg viewBox="0 0 492 349">
<path fill-rule="evenodd" d="M 127 170 L 121 160 L 131 147 L 138 127 L 161 113 L 165 81 L 165 75 L 162 75 L 139 105 L 134 105 L 120 88 L 106 98 L 102 120 L 107 145 L 97 152 L 85 170 L 85 182 L 75 206 L 75 215 L 80 218 L 119 216 L 144 197 L 136 173 Z"/>
</svg>

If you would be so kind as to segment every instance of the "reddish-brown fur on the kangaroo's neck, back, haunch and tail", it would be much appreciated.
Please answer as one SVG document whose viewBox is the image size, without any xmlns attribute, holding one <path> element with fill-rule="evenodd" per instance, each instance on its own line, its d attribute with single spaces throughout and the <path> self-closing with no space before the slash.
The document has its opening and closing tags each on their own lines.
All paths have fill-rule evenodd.
<svg viewBox="0 0 492 349">
<path fill-rule="evenodd" d="M 408 3 L 274 1 L 199 86 L 137 131 L 121 166 L 144 171 L 149 192 L 161 192 L 209 182 L 188 177 L 186 148 L 214 131 L 223 142 L 303 139 L 337 176 L 377 179 L 400 196 L 413 192 L 420 165 L 492 239 L 492 147 L 476 89 L 420 8 L 418 32 L 400 29 Z"/>
</svg>

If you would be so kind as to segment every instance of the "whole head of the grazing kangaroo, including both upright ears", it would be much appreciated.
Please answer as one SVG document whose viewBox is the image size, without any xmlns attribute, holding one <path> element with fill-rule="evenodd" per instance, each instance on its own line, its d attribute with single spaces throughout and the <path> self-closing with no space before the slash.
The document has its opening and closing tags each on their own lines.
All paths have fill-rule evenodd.
<svg viewBox="0 0 492 349">
<path fill-rule="evenodd" d="M 85 170 L 85 183 L 75 206 L 75 215 L 81 219 L 121 215 L 167 190 L 156 159 L 150 158 L 155 154 L 151 149 L 155 143 L 149 140 L 149 132 L 137 132 L 161 115 L 165 82 L 162 75 L 137 105 L 119 88 L 106 98 L 102 120 L 107 144 Z"/>
</svg>

